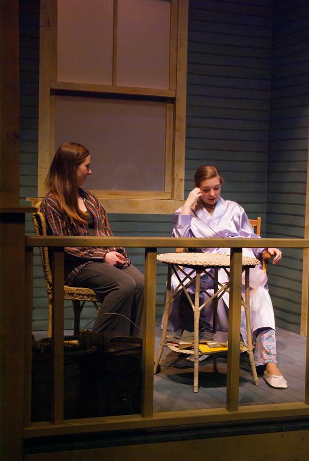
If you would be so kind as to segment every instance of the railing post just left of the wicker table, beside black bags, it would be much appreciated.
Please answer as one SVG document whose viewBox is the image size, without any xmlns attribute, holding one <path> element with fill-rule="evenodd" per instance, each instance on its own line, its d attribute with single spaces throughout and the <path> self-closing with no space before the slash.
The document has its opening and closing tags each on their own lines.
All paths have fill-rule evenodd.
<svg viewBox="0 0 309 461">
<path fill-rule="evenodd" d="M 142 405 L 143 417 L 153 416 L 153 364 L 156 312 L 156 271 L 157 249 L 145 248 L 145 292 L 143 321 L 143 380 Z"/>
</svg>

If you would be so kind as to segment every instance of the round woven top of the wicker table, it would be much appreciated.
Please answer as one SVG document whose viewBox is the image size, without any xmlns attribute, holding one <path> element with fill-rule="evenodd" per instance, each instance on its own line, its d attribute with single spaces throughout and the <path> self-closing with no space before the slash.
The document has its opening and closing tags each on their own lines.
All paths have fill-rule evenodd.
<svg viewBox="0 0 309 461">
<path fill-rule="evenodd" d="M 162 253 L 157 261 L 182 266 L 230 267 L 230 255 L 215 253 Z M 256 266 L 260 261 L 249 256 L 242 257 L 242 266 Z"/>
</svg>

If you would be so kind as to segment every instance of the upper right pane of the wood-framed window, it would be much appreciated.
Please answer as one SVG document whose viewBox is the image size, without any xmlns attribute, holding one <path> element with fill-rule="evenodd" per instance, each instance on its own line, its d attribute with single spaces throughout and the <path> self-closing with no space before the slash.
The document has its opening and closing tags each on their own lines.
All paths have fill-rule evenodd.
<svg viewBox="0 0 309 461">
<path fill-rule="evenodd" d="M 169 88 L 170 10 L 166 0 L 118 0 L 117 85 Z"/>
</svg>

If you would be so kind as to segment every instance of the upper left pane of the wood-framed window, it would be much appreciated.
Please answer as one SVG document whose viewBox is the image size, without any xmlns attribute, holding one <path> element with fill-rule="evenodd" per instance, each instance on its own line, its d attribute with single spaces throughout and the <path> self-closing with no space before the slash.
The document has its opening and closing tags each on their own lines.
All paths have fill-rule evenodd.
<svg viewBox="0 0 309 461">
<path fill-rule="evenodd" d="M 58 0 L 58 81 L 111 85 L 113 0 Z"/>
</svg>

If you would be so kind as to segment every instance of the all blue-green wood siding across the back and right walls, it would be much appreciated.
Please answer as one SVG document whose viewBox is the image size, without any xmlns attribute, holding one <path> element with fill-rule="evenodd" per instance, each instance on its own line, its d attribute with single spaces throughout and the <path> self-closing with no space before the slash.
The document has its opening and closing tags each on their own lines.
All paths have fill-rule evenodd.
<svg viewBox="0 0 309 461">
<path fill-rule="evenodd" d="M 20 202 L 37 194 L 39 2 L 20 0 Z M 190 0 L 186 196 L 200 164 L 225 178 L 222 196 L 269 237 L 303 237 L 309 116 L 309 5 L 306 1 Z M 109 216 L 115 235 L 168 236 L 166 215 Z M 27 220 L 27 233 L 33 233 Z M 166 251 L 166 250 L 162 250 Z M 143 249 L 128 249 L 143 270 Z M 302 253 L 286 250 L 270 267 L 278 326 L 299 331 Z M 157 322 L 166 267 L 157 267 Z M 82 325 L 95 316 L 84 309 Z M 42 268 L 34 267 L 34 329 L 46 328 Z M 65 327 L 73 311 L 66 308 Z"/>
</svg>

